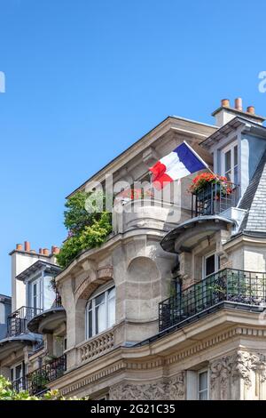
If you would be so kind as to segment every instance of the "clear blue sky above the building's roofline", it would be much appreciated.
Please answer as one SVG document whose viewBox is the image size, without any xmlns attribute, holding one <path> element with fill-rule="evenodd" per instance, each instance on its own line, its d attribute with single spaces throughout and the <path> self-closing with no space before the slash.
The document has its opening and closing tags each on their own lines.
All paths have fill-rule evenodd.
<svg viewBox="0 0 266 418">
<path fill-rule="evenodd" d="M 66 195 L 164 117 L 213 123 L 237 96 L 266 114 L 265 15 L 265 0 L 0 0 L 0 293 L 14 245 L 60 245 Z"/>
</svg>

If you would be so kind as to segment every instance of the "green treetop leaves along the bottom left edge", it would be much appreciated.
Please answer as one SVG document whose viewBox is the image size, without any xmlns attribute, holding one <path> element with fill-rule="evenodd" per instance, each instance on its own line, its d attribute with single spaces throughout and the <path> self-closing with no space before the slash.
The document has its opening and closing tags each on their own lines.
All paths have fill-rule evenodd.
<svg viewBox="0 0 266 418">
<path fill-rule="evenodd" d="M 67 398 L 67 400 L 88 400 L 89 398 Z M 0 400 L 66 400 L 61 396 L 59 390 L 49 390 L 42 398 L 29 395 L 27 390 L 21 390 L 16 392 L 12 390 L 12 383 L 9 382 L 4 376 L 0 375 Z"/>
</svg>

